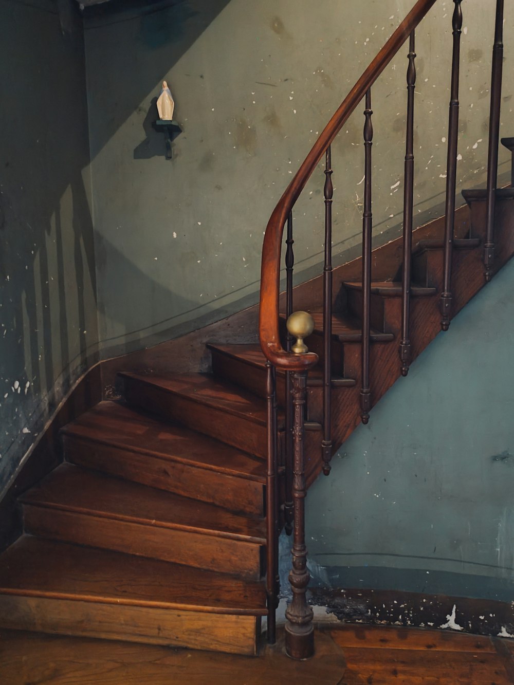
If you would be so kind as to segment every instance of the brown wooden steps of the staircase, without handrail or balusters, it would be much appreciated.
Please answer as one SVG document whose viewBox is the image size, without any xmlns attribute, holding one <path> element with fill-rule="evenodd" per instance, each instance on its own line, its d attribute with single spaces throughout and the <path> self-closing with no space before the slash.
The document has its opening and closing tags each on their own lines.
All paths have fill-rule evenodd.
<svg viewBox="0 0 514 685">
<path fill-rule="evenodd" d="M 485 199 L 464 193 L 455 311 L 484 284 Z M 462 210 L 460 210 L 462 212 Z M 439 222 L 440 224 L 440 222 Z M 441 238 L 414 234 L 417 356 L 440 331 Z M 514 189 L 498 191 L 497 268 L 514 253 Z M 393 246 L 374 252 L 374 403 L 400 376 L 401 288 Z M 342 267 L 352 271 L 352 264 Z M 334 313 L 334 451 L 360 422 L 360 284 Z M 339 293 L 341 295 L 341 293 Z M 308 341 L 323 360 L 320 314 Z M 258 345 L 209 345 L 212 373 L 119 374 L 103 401 L 62 431 L 65 462 L 20 497 L 24 534 L 0 556 L 0 625 L 143 643 L 256 653 L 265 616 L 266 366 Z M 320 362 L 320 363 L 321 363 Z M 284 374 L 278 373 L 284 406 Z M 308 379 L 308 481 L 321 469 L 321 371 Z M 278 427 L 284 430 L 283 412 Z"/>
</svg>

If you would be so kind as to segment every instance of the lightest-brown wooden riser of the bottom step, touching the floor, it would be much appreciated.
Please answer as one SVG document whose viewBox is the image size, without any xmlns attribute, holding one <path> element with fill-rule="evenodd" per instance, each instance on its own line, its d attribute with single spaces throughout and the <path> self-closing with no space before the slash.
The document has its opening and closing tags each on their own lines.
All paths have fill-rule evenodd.
<svg viewBox="0 0 514 685">
<path fill-rule="evenodd" d="M 0 595 L 0 627 L 232 654 L 256 654 L 260 619 L 71 599 Z"/>
</svg>

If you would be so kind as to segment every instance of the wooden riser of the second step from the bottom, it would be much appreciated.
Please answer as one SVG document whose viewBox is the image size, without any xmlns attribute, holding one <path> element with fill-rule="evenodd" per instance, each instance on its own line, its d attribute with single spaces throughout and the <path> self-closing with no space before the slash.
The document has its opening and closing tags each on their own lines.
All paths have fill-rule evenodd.
<svg viewBox="0 0 514 685">
<path fill-rule="evenodd" d="M 232 573 L 246 580 L 261 575 L 257 543 L 29 504 L 23 506 L 23 520 L 25 532 L 51 540 Z"/>
</svg>

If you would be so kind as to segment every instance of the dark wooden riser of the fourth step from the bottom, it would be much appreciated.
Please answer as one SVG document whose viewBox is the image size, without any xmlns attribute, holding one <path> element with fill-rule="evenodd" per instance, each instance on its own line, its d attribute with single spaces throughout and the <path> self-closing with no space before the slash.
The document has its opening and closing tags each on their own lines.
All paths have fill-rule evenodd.
<svg viewBox="0 0 514 685">
<path fill-rule="evenodd" d="M 222 443 L 232 445 L 262 459 L 267 455 L 267 428 L 265 425 L 228 414 L 212 406 L 195 402 L 188 397 L 166 390 L 124 379 L 125 399 L 129 404 L 155 412 L 164 419 L 180 423 L 204 433 Z"/>
</svg>

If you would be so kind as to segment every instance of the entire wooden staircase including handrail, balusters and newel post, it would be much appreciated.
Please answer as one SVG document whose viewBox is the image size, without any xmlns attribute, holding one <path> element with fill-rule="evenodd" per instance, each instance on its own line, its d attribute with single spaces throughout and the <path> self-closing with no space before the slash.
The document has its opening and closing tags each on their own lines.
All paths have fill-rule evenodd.
<svg viewBox="0 0 514 685">
<path fill-rule="evenodd" d="M 449 182 L 445 220 L 414 232 L 412 223 L 407 230 L 404 222 L 403 241 L 398 238 L 371 254 L 370 88 L 410 36 L 408 88 L 413 95 L 413 31 L 434 3 L 418 0 L 332 117 L 271 216 L 260 299 L 260 344 L 266 358 L 256 344 L 257 329 L 254 343 L 232 344 L 228 323 L 222 342 L 208 345 L 208 373 L 127 369 L 118 374 L 120 399 L 101 401 L 63 429 L 64 462 L 21 495 L 23 535 L 0 555 L 0 627 L 255 654 L 262 616 L 268 617 L 268 632 L 274 635 L 276 534 L 291 525 L 294 508 L 290 579 L 295 599 L 301 598 L 288 616 L 293 629 L 289 643 L 286 629 L 286 649 L 295 658 L 310 656 L 304 473 L 308 486 L 322 468 L 328 471 L 322 445 L 335 453 L 356 425 L 367 421 L 368 398 L 371 406 L 376 404 L 441 332 L 441 315 L 454 316 L 485 285 L 482 260 L 489 279 L 514 254 L 513 187 L 495 190 L 494 178 L 488 190 L 465 191 L 467 208 L 454 211 L 455 107 L 450 108 L 453 186 Z M 454 3 L 455 74 L 462 17 L 460 0 Z M 498 10 L 497 33 L 501 20 Z M 323 279 L 295 290 L 295 306 L 313 316 L 308 345 L 317 360 L 291 351 L 286 317 L 279 317 L 276 308 L 282 231 L 287 223 L 290 287 L 284 310 L 289 314 L 292 206 L 326 155 L 330 246 L 330 144 L 364 96 L 365 257 L 332 270 L 326 249 Z M 412 134 L 411 129 L 411 147 Z M 514 151 L 513 139 L 502 142 Z M 411 158 L 406 155 L 406 169 Z M 411 175 L 406 173 L 411 191 L 412 174 L 411 164 Z M 443 323 L 447 328 L 448 320 Z M 409 359 L 402 356 L 400 363 L 398 351 L 405 347 Z M 294 401 L 286 391 L 291 378 Z"/>
</svg>

